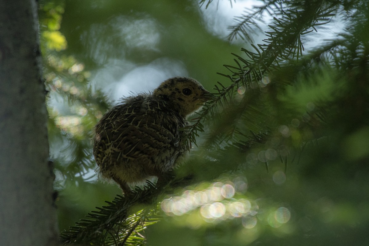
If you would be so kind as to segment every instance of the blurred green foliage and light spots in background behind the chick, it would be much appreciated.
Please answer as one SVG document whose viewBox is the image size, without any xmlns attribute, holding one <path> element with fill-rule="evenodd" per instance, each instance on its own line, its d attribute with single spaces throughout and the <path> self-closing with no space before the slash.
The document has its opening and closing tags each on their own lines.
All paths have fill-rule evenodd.
<svg viewBox="0 0 369 246">
<path fill-rule="evenodd" d="M 318 23 L 283 47 L 289 22 L 273 30 L 263 11 L 296 17 L 308 2 L 39 1 L 60 230 L 121 193 L 94 173 L 104 112 L 190 76 L 221 99 L 193 116 L 205 133 L 176 170 L 191 184 L 159 200 L 147 245 L 368 245 L 368 3 L 310 1 Z M 267 7 L 252 19 L 252 4 Z"/>
</svg>

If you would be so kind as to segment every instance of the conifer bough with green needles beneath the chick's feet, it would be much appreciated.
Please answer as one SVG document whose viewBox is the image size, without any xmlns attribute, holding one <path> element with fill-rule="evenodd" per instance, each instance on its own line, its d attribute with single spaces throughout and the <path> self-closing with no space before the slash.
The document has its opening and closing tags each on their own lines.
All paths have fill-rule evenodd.
<svg viewBox="0 0 369 246">
<path fill-rule="evenodd" d="M 62 232 L 63 243 L 87 243 L 88 245 L 144 245 L 145 238 L 139 234 L 146 226 L 155 224 L 156 205 L 146 205 L 130 214 L 138 202 L 150 202 L 155 187 L 149 184 L 146 190 L 134 193 L 129 198 L 118 195 L 107 206 L 97 208 L 81 219 L 70 231 Z M 137 207 L 136 207 L 137 208 Z"/>
</svg>

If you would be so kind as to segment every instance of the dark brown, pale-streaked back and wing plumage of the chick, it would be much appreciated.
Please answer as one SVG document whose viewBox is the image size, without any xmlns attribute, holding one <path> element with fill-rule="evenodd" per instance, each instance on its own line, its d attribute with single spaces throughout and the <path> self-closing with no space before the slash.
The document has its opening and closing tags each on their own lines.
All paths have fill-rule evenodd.
<svg viewBox="0 0 369 246">
<path fill-rule="evenodd" d="M 96 127 L 98 138 L 94 148 L 98 146 L 96 152 L 109 153 L 113 162 L 146 160 L 172 166 L 177 157 L 189 150 L 180 131 L 186 121 L 165 102 L 142 100 L 121 104 L 104 117 Z"/>
</svg>

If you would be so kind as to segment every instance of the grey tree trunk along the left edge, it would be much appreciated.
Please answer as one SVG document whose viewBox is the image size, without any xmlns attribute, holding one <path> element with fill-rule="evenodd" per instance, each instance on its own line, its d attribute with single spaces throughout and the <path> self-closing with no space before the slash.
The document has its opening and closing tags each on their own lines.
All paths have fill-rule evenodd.
<svg viewBox="0 0 369 246">
<path fill-rule="evenodd" d="M 35 0 L 0 0 L 0 245 L 58 244 Z"/>
</svg>

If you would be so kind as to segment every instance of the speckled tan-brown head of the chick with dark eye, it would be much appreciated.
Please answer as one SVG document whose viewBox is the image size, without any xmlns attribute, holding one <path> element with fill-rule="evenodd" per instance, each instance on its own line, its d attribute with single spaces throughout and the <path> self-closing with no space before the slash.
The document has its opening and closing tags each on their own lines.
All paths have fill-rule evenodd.
<svg viewBox="0 0 369 246">
<path fill-rule="evenodd" d="M 197 80 L 186 77 L 165 80 L 154 90 L 152 96 L 168 101 L 173 110 L 177 110 L 182 117 L 192 114 L 201 108 L 204 101 L 211 98 L 210 92 Z"/>
</svg>

